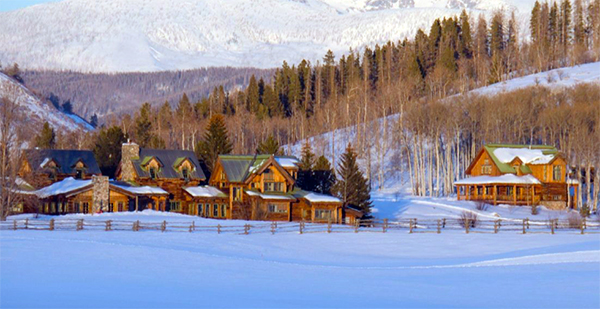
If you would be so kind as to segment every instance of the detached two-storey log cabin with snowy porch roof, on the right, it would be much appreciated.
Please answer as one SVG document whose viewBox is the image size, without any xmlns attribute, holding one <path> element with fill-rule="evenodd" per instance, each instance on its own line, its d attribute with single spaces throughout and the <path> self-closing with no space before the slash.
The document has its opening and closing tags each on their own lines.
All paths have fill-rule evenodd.
<svg viewBox="0 0 600 309">
<path fill-rule="evenodd" d="M 489 204 L 576 208 L 578 184 L 553 146 L 488 144 L 454 183 L 457 199 Z"/>
</svg>

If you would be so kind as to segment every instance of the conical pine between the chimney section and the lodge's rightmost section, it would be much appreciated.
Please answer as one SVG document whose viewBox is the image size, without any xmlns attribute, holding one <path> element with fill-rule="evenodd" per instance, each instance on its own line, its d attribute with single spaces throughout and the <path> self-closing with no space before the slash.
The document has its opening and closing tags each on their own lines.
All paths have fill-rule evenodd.
<svg viewBox="0 0 600 309">
<path fill-rule="evenodd" d="M 220 154 L 229 154 L 233 149 L 223 115 L 215 114 L 210 118 L 204 138 L 196 145 L 196 155 L 204 160 L 204 163 L 212 172 Z"/>
</svg>

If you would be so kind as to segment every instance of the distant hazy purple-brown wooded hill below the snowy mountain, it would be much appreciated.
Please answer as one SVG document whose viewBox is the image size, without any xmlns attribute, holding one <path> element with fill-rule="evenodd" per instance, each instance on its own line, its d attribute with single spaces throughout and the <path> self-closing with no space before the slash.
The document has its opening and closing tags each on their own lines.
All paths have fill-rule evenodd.
<svg viewBox="0 0 600 309">
<path fill-rule="evenodd" d="M 216 87 L 232 91 L 243 87 L 250 76 L 269 79 L 273 70 L 254 68 L 204 68 L 153 73 L 79 73 L 72 71 L 23 71 L 28 87 L 36 89 L 55 105 L 70 102 L 73 111 L 100 122 L 114 114 L 131 113 L 141 103 L 176 103 L 183 93 L 193 101 L 206 97 Z"/>
</svg>

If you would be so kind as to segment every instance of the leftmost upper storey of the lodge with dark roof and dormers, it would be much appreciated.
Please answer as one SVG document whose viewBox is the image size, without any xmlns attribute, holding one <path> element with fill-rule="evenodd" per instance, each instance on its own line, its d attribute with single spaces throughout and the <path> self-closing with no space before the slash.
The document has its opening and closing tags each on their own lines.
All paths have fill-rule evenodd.
<svg viewBox="0 0 600 309">
<path fill-rule="evenodd" d="M 23 152 L 18 175 L 36 188 L 63 179 L 91 179 L 102 173 L 89 150 L 28 149 Z"/>
</svg>

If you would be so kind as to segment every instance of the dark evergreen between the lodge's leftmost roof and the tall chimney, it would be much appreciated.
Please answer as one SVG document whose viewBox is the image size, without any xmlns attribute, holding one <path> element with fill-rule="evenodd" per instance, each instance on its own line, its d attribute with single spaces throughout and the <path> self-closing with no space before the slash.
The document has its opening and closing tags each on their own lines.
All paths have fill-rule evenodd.
<svg viewBox="0 0 600 309">
<path fill-rule="evenodd" d="M 114 177 L 121 161 L 121 146 L 126 141 L 127 137 L 119 126 L 98 132 L 93 152 L 103 175 Z"/>
</svg>

